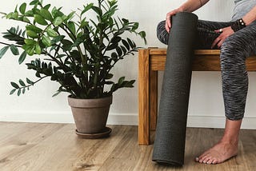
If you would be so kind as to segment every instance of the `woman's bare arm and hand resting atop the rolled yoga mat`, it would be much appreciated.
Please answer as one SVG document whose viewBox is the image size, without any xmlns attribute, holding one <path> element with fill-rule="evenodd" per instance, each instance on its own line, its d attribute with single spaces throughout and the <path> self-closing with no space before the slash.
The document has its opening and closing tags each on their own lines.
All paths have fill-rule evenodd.
<svg viewBox="0 0 256 171">
<path fill-rule="evenodd" d="M 194 10 L 198 10 L 198 8 L 202 7 L 206 4 L 206 2 L 209 2 L 210 0 L 187 0 L 182 4 L 182 6 L 179 6 L 175 10 L 171 10 L 169 13 L 166 14 L 166 30 L 169 33 L 170 27 L 171 27 L 171 21 L 170 18 L 174 14 L 177 14 L 179 12 L 193 12 Z"/>
</svg>

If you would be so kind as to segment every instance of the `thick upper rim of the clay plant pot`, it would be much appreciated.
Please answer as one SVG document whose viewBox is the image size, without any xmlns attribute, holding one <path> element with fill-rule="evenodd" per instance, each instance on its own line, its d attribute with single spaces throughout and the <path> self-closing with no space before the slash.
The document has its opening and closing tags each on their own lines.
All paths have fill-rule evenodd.
<svg viewBox="0 0 256 171">
<path fill-rule="evenodd" d="M 103 106 L 111 105 L 112 101 L 113 101 L 113 96 L 93 98 L 93 99 L 81 99 L 81 98 L 73 98 L 70 95 L 68 96 L 69 105 L 75 108 L 103 107 Z"/>
</svg>

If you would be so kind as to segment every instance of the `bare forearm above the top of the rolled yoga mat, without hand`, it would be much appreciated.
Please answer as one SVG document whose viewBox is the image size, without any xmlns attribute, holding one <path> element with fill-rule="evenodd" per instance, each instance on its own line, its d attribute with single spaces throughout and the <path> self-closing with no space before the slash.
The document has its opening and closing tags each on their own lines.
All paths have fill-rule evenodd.
<svg viewBox="0 0 256 171">
<path fill-rule="evenodd" d="M 209 2 L 209 0 L 188 0 L 182 4 L 178 9 L 186 12 L 193 12 L 194 10 L 198 10 L 198 8 L 202 7 Z"/>
</svg>

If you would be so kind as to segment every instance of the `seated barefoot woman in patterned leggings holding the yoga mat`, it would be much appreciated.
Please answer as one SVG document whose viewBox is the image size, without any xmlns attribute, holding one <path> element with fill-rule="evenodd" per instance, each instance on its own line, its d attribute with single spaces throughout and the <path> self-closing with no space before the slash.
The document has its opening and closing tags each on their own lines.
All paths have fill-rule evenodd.
<svg viewBox="0 0 256 171">
<path fill-rule="evenodd" d="M 209 0 L 187 0 L 166 14 L 158 25 L 158 39 L 167 44 L 171 17 L 178 12 L 193 12 Z M 220 141 L 195 161 L 218 164 L 238 154 L 238 136 L 246 105 L 248 76 L 246 58 L 256 53 L 256 0 L 234 0 L 231 22 L 198 21 L 198 49 L 220 48 L 222 93 L 226 126 Z"/>
</svg>

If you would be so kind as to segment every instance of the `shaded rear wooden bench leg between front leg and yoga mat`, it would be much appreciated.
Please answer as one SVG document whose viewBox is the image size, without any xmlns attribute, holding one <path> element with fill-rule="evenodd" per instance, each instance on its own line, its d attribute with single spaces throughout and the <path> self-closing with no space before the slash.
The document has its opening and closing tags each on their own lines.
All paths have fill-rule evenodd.
<svg viewBox="0 0 256 171">
<path fill-rule="evenodd" d="M 150 70 L 150 130 L 155 130 L 158 119 L 158 71 Z"/>
</svg>

